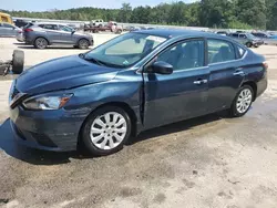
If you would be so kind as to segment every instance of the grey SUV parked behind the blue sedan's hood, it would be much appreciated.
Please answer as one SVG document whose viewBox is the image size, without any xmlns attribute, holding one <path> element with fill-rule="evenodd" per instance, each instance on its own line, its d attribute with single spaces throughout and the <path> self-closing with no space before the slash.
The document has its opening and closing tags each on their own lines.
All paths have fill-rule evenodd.
<svg viewBox="0 0 277 208">
<path fill-rule="evenodd" d="M 91 34 L 76 32 L 74 29 L 59 23 L 37 22 L 29 23 L 23 30 L 24 41 L 37 49 L 45 49 L 48 45 L 65 44 L 79 49 L 88 49 L 93 45 Z"/>
</svg>

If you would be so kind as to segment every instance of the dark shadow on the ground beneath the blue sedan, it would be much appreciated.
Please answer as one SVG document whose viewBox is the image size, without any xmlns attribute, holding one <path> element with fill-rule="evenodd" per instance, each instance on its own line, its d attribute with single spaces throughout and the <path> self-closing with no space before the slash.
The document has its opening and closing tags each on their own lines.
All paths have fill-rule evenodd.
<svg viewBox="0 0 277 208">
<path fill-rule="evenodd" d="M 223 117 L 227 117 L 227 114 L 225 112 L 211 114 L 193 119 L 174 123 L 163 127 L 150 129 L 140 134 L 137 137 L 133 137 L 126 145 L 130 146 L 150 139 L 152 137 L 186 131 L 198 125 L 218 121 Z M 17 159 L 33 165 L 59 165 L 59 164 L 70 163 L 70 158 L 88 159 L 94 157 L 89 155 L 88 152 L 83 150 L 83 148 L 81 150 L 75 150 L 75 152 L 55 153 L 55 152 L 33 149 L 19 145 L 13 139 L 13 134 L 10 126 L 10 119 L 7 119 L 0 126 L 0 135 L 1 135 L 0 149 L 4 150 L 6 154 L 10 155 L 11 157 L 14 157 Z"/>
</svg>

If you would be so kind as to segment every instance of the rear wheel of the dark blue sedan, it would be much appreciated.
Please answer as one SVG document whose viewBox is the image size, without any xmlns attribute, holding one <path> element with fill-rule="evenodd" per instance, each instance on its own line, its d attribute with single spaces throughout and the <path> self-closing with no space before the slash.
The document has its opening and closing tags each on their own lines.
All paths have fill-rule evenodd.
<svg viewBox="0 0 277 208">
<path fill-rule="evenodd" d="M 237 92 L 235 100 L 230 107 L 230 115 L 233 117 L 244 116 L 250 108 L 254 100 L 254 91 L 252 86 L 244 85 Z"/>
</svg>

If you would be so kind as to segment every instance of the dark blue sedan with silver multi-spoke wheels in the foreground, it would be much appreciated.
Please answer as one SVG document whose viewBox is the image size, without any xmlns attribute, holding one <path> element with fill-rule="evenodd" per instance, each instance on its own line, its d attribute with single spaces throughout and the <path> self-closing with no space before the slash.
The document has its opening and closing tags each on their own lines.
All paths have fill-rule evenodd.
<svg viewBox="0 0 277 208">
<path fill-rule="evenodd" d="M 243 116 L 266 87 L 265 59 L 227 37 L 135 31 L 24 71 L 11 126 L 30 147 L 109 155 L 148 128 L 223 110 Z"/>
</svg>

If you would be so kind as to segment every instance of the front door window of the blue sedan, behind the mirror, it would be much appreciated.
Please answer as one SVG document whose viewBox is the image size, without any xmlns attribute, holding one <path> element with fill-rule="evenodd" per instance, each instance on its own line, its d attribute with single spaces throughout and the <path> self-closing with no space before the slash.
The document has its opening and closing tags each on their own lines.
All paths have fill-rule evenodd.
<svg viewBox="0 0 277 208">
<path fill-rule="evenodd" d="M 160 54 L 157 61 L 170 63 L 174 71 L 204 66 L 204 41 L 192 40 L 178 43 Z"/>
</svg>

